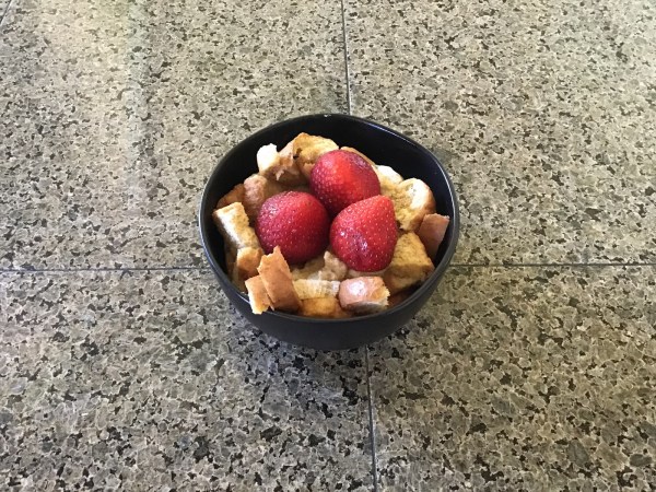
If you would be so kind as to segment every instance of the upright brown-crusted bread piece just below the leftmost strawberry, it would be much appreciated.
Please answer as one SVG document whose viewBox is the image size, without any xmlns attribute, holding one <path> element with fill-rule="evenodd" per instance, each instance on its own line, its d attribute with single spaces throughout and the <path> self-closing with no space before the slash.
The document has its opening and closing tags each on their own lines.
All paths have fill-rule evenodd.
<svg viewBox="0 0 656 492">
<path fill-rule="evenodd" d="M 279 246 L 276 246 L 270 255 L 262 256 L 257 271 L 274 309 L 291 313 L 298 311 L 301 300 L 292 282 L 290 266 L 280 253 Z"/>
</svg>

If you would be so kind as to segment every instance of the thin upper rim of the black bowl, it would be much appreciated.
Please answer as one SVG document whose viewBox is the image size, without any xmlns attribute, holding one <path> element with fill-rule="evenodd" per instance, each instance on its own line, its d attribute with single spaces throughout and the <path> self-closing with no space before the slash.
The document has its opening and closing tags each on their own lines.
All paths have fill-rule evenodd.
<svg viewBox="0 0 656 492">
<path fill-rule="evenodd" d="M 214 181 L 214 177 L 215 175 L 221 171 L 221 167 L 223 165 L 223 163 L 225 161 L 227 161 L 232 154 L 234 154 L 236 152 L 236 149 L 242 145 L 244 142 L 254 139 L 256 137 L 262 136 L 265 133 L 268 133 L 271 130 L 274 130 L 279 127 L 283 127 L 286 126 L 291 122 L 297 122 L 301 120 L 306 120 L 306 119 L 315 119 L 315 118 L 335 118 L 335 119 L 342 119 L 342 120 L 351 120 L 354 122 L 359 122 L 359 124 L 365 124 L 370 127 L 375 127 L 378 130 L 382 130 L 384 132 L 387 133 L 391 133 L 394 134 L 396 138 L 399 138 L 401 140 L 405 140 L 406 142 L 408 142 L 409 144 L 411 144 L 412 147 L 417 148 L 418 150 L 420 150 L 422 153 L 426 154 L 427 156 L 430 156 L 435 164 L 437 165 L 438 169 L 441 171 L 442 175 L 444 176 L 445 180 L 446 180 L 446 185 L 447 188 L 449 190 L 449 195 L 450 195 L 450 200 L 453 202 L 453 208 L 454 208 L 454 216 L 449 218 L 450 222 L 449 222 L 449 226 L 453 227 L 452 229 L 452 234 L 453 234 L 453 239 L 450 242 L 450 244 L 448 245 L 448 248 L 446 249 L 446 251 L 444 253 L 444 256 L 442 258 L 442 260 L 440 261 L 438 265 L 435 266 L 435 270 L 433 270 L 433 272 L 431 273 L 431 276 L 414 291 L 412 292 L 412 294 L 410 294 L 408 296 L 408 298 L 403 300 L 402 302 L 400 302 L 399 304 L 397 304 L 394 307 L 390 307 L 388 309 L 378 312 L 378 313 L 373 313 L 373 314 L 368 314 L 368 315 L 363 315 L 363 316 L 356 316 L 353 318 L 337 318 L 337 319 L 329 319 L 329 318 L 311 318 L 307 316 L 298 316 L 298 315 L 294 315 L 294 314 L 289 314 L 289 313 L 282 313 L 279 311 L 267 311 L 265 313 L 261 314 L 261 316 L 276 316 L 276 317 L 280 317 L 282 319 L 286 319 L 289 321 L 312 321 L 312 323 L 318 323 L 318 324 L 323 324 L 323 325 L 344 325 L 345 321 L 359 321 L 359 320 L 366 320 L 366 319 L 373 319 L 376 317 L 379 317 L 382 315 L 387 315 L 387 314 L 394 314 L 396 312 L 402 311 L 406 308 L 407 305 L 411 304 L 415 298 L 420 297 L 422 295 L 422 293 L 424 293 L 426 290 L 431 289 L 433 286 L 433 284 L 435 284 L 435 282 L 437 282 L 442 276 L 444 274 L 444 272 L 446 271 L 446 269 L 448 268 L 448 265 L 456 251 L 456 247 L 458 245 L 458 239 L 459 239 L 459 235 L 460 235 L 460 209 L 459 209 L 459 203 L 458 203 L 458 197 L 455 190 L 455 186 L 454 183 L 450 178 L 450 176 L 448 175 L 448 172 L 446 171 L 446 168 L 444 167 L 444 165 L 442 164 L 442 162 L 440 161 L 440 159 L 437 159 L 437 156 L 431 152 L 429 149 L 426 149 L 425 147 L 423 147 L 421 143 L 412 140 L 411 138 L 400 133 L 397 130 L 394 130 L 391 128 L 388 128 L 384 125 L 380 125 L 376 121 L 373 121 L 371 119 L 366 119 L 366 118 L 362 118 L 359 116 L 353 116 L 353 115 L 347 115 L 347 114 L 341 114 L 341 113 L 316 113 L 316 114 L 309 114 L 309 115 L 302 115 L 302 116 L 296 116 L 293 118 L 286 118 L 283 120 L 279 120 L 276 121 L 271 125 L 268 125 L 267 127 L 263 127 L 259 130 L 257 130 L 254 133 L 250 133 L 248 137 L 246 137 L 245 139 L 241 140 L 239 142 L 237 142 L 236 144 L 234 144 L 216 163 L 216 165 L 214 166 L 214 169 L 212 171 L 212 173 L 210 174 L 210 176 L 208 177 L 208 179 L 206 180 L 206 185 L 203 187 L 202 194 L 200 196 L 200 201 L 198 204 L 198 226 L 199 226 L 199 232 L 200 232 L 200 241 L 201 241 L 201 245 L 202 245 L 202 249 L 204 253 L 206 258 L 208 259 L 208 262 L 210 263 L 210 267 L 212 268 L 214 274 L 219 276 L 222 286 L 223 285 L 230 285 L 232 289 L 234 289 L 234 291 L 236 292 L 236 294 L 242 297 L 246 303 L 248 303 L 248 295 L 244 294 L 243 292 L 239 292 L 236 288 L 234 288 L 232 281 L 230 280 L 230 278 L 227 277 L 227 274 L 223 271 L 223 269 L 221 268 L 221 266 L 219 265 L 219 262 L 215 260 L 215 258 L 213 258 L 213 256 L 210 253 L 210 248 L 208 245 L 208 231 L 206 227 L 206 221 L 203 220 L 203 214 L 202 214 L 202 210 L 203 210 L 203 204 L 207 203 L 208 201 L 208 195 L 210 192 L 210 187 L 209 184 Z"/>
</svg>

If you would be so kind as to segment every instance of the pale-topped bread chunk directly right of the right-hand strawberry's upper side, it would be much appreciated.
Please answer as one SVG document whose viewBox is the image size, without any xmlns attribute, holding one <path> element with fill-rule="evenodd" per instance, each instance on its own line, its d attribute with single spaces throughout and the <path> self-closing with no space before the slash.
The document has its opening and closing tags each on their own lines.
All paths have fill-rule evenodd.
<svg viewBox="0 0 656 492">
<path fill-rule="evenodd" d="M 394 212 L 403 231 L 415 231 L 427 213 L 435 213 L 435 198 L 421 179 L 401 181 L 391 196 Z"/>
</svg>

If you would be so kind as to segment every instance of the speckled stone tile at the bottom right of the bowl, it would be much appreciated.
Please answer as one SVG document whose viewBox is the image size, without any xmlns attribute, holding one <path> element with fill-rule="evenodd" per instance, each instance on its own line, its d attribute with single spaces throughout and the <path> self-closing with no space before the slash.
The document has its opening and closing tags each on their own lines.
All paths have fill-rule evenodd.
<svg viewBox="0 0 656 492">
<path fill-rule="evenodd" d="M 656 267 L 452 269 L 368 359 L 382 490 L 656 483 Z"/>
</svg>

